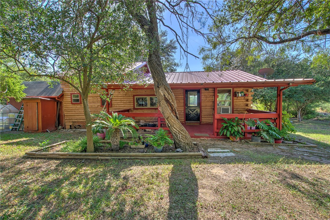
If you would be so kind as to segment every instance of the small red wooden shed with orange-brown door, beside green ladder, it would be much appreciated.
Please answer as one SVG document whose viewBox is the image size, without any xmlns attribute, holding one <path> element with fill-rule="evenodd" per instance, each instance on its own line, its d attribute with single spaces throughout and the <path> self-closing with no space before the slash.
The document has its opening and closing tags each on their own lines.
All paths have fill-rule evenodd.
<svg viewBox="0 0 330 220">
<path fill-rule="evenodd" d="M 41 97 L 23 98 L 24 132 L 46 132 L 56 130 L 59 101 Z"/>
</svg>

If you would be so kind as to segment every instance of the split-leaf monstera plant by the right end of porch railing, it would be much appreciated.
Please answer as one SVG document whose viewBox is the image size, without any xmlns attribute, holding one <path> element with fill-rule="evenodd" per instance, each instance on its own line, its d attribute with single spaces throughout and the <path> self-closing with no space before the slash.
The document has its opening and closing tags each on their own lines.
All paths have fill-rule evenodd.
<svg viewBox="0 0 330 220">
<path fill-rule="evenodd" d="M 245 121 L 245 123 L 250 127 L 258 126 L 260 131 L 256 133 L 269 143 L 274 143 L 274 139 L 281 139 L 280 130 L 275 127 L 274 123 L 271 122 L 269 119 L 266 119 L 264 121 L 259 121 L 257 119 L 256 122 L 253 119 L 248 119 Z"/>
</svg>

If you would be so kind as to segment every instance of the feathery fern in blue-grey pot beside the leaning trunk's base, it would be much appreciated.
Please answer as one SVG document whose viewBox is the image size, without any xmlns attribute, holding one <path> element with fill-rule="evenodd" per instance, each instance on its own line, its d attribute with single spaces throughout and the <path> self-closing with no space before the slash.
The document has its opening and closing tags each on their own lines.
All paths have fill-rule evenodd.
<svg viewBox="0 0 330 220">
<path fill-rule="evenodd" d="M 173 144 L 173 141 L 167 135 L 167 131 L 162 128 L 156 130 L 154 135 L 147 135 L 147 136 L 149 136 L 147 138 L 148 143 L 150 143 L 153 146 L 155 152 L 157 153 L 163 150 L 163 146 L 165 144 Z"/>
</svg>

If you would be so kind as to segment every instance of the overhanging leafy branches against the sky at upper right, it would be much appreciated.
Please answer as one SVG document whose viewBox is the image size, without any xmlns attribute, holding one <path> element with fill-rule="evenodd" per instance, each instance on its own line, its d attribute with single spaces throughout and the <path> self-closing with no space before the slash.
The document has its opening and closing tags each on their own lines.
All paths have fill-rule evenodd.
<svg viewBox="0 0 330 220">
<path fill-rule="evenodd" d="M 329 50 L 330 1 L 227 0 L 209 26 L 209 47 L 202 47 L 205 65 L 221 60 L 228 49 L 249 53 L 286 44 L 305 52 Z"/>
</svg>

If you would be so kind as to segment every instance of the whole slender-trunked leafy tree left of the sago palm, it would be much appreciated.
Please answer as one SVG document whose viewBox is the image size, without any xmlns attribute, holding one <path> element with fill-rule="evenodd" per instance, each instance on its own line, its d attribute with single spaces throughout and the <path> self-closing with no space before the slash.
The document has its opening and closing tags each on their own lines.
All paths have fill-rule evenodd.
<svg viewBox="0 0 330 220">
<path fill-rule="evenodd" d="M 141 31 L 120 1 L 1 1 L 3 65 L 12 72 L 63 80 L 82 96 L 86 124 L 87 97 L 106 81 L 136 79 L 127 71 L 143 48 Z M 12 69 L 10 59 L 16 65 Z M 33 70 L 33 71 L 31 71 Z M 124 75 L 125 73 L 125 75 Z M 87 126 L 87 151 L 93 151 Z"/>
</svg>

